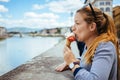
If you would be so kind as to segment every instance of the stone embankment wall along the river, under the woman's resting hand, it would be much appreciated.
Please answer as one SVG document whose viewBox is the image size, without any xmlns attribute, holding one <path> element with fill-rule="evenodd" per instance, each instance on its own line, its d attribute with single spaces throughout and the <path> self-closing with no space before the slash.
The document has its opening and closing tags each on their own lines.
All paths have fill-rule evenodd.
<svg viewBox="0 0 120 80">
<path fill-rule="evenodd" d="M 0 80 L 73 80 L 70 71 L 55 71 L 55 67 L 63 62 L 64 44 L 65 40 L 25 64 L 0 76 Z M 74 53 L 77 53 L 75 46 L 74 42 L 72 49 Z"/>
</svg>

